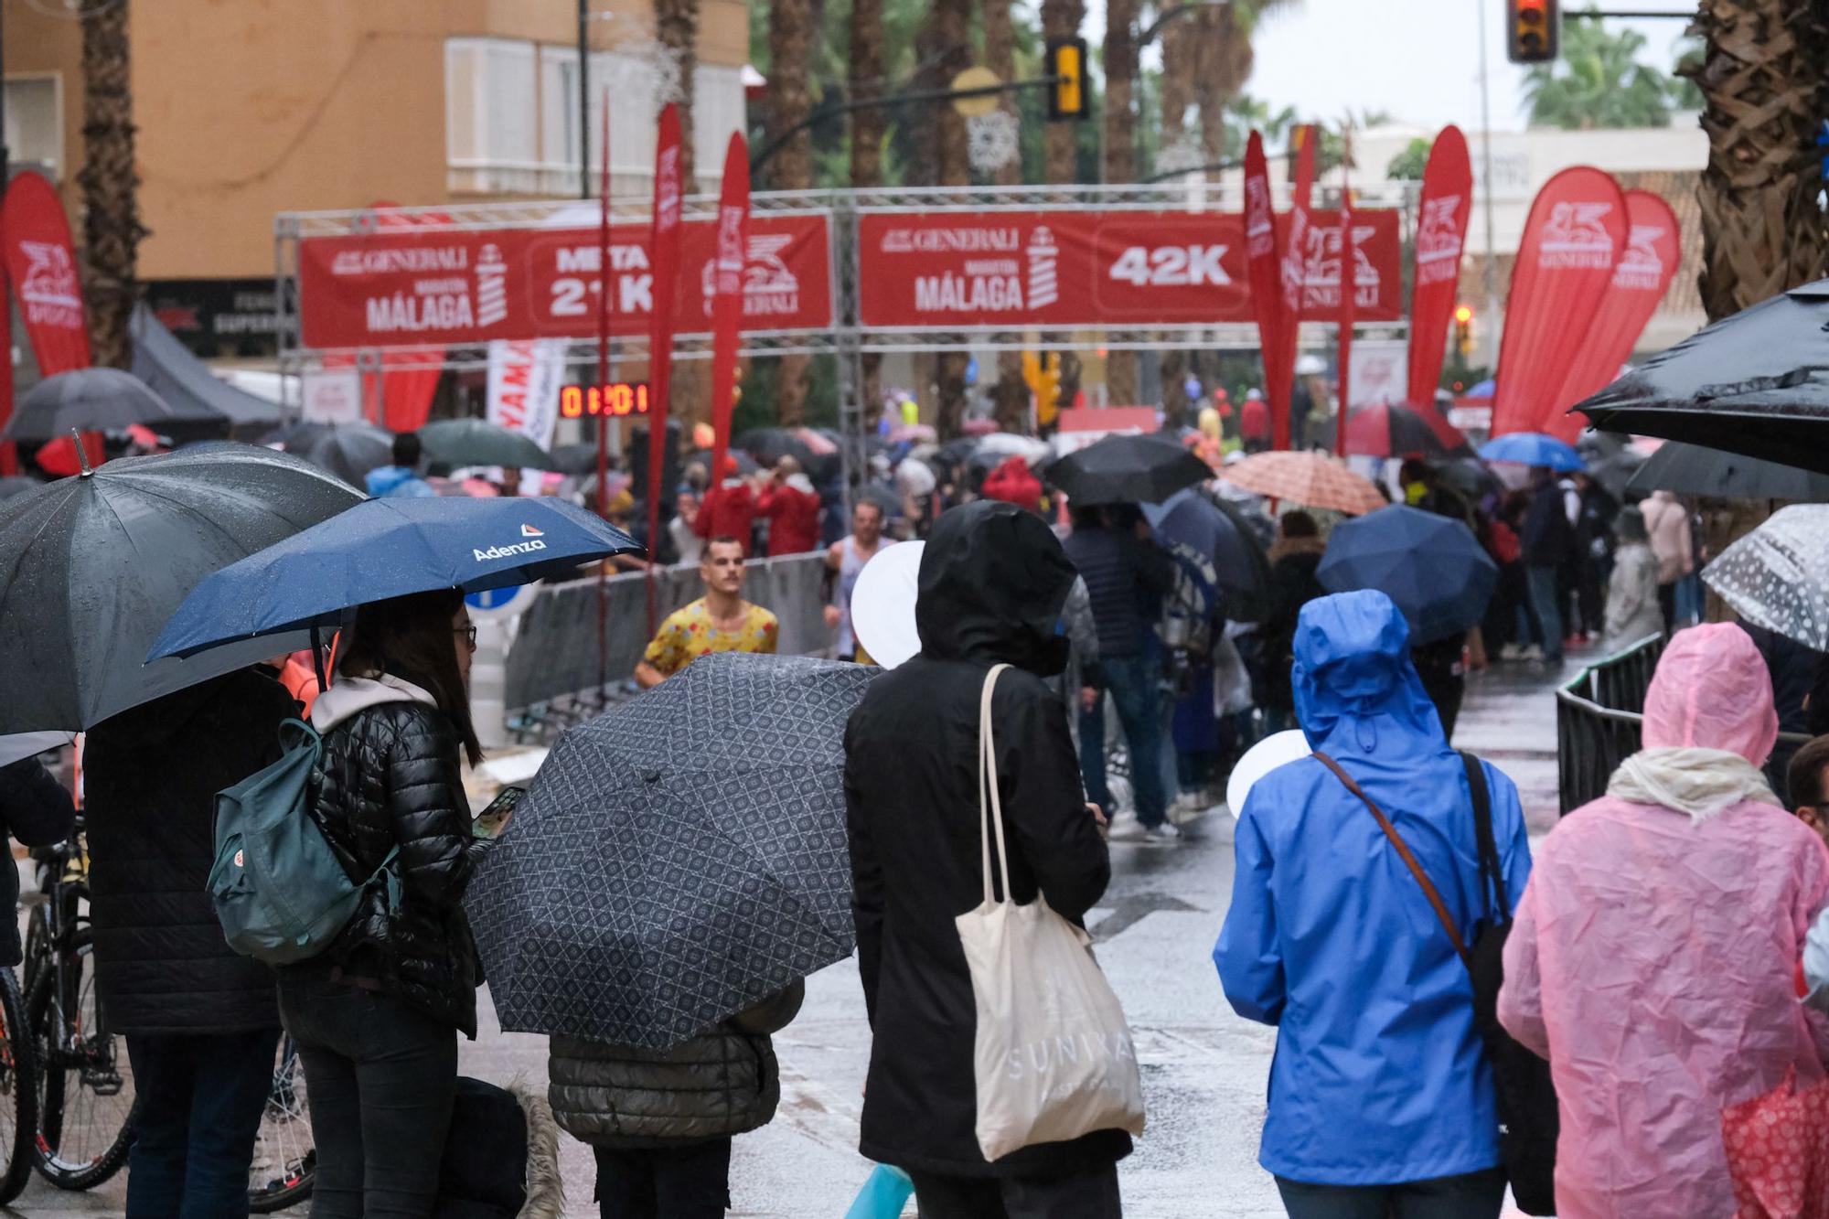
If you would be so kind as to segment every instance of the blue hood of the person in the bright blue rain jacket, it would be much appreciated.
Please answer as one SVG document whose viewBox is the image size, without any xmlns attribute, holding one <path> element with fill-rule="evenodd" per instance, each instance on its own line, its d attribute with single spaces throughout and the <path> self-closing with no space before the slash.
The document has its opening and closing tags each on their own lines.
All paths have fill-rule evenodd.
<svg viewBox="0 0 1829 1219">
<path fill-rule="evenodd" d="M 1302 606 L 1289 683 L 1297 719 L 1315 749 L 1370 754 L 1381 732 L 1421 734 L 1447 749 L 1441 719 L 1410 663 L 1410 626 L 1377 589 Z"/>
</svg>

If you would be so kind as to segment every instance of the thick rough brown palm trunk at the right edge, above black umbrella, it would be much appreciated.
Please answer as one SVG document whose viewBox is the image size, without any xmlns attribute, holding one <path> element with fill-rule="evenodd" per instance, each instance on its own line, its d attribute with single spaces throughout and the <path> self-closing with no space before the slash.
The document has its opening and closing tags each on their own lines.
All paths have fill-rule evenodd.
<svg viewBox="0 0 1829 1219">
<path fill-rule="evenodd" d="M 1695 31 L 1706 40 L 1690 70 L 1708 134 L 1701 293 L 1721 318 L 1829 269 L 1813 146 L 1829 27 L 1820 5 L 1703 0 Z"/>
</svg>

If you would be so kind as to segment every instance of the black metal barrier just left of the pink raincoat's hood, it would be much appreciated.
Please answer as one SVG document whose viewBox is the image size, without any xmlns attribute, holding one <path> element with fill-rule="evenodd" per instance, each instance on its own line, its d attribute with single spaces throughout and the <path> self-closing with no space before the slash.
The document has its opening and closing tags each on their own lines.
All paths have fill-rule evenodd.
<svg viewBox="0 0 1829 1219">
<path fill-rule="evenodd" d="M 1639 752 L 1644 694 L 1663 653 L 1663 635 L 1641 639 L 1556 690 L 1556 789 L 1564 814 L 1604 796 L 1619 763 Z M 1780 732 L 1778 739 L 1802 745 L 1811 738 Z"/>
</svg>

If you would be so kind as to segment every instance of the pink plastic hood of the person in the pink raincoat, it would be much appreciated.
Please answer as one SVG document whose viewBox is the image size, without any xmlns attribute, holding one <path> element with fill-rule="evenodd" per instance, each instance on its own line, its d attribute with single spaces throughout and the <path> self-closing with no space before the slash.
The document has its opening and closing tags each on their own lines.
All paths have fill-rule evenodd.
<svg viewBox="0 0 1829 1219">
<path fill-rule="evenodd" d="M 1646 749 L 1725 749 L 1765 765 L 1778 741 L 1772 674 L 1732 622 L 1677 631 L 1644 694 Z"/>
</svg>

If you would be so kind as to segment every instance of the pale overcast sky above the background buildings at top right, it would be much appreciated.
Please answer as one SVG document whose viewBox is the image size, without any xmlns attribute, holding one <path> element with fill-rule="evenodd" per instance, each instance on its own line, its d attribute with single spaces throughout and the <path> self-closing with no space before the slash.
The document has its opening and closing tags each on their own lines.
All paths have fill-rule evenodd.
<svg viewBox="0 0 1829 1219">
<path fill-rule="evenodd" d="M 1683 4 L 1633 0 L 1604 7 Z M 1505 62 L 1503 0 L 1299 0 L 1258 26 L 1257 68 L 1246 92 L 1275 108 L 1295 106 L 1304 119 L 1335 119 L 1352 108 L 1385 110 L 1416 126 L 1478 128 L 1481 9 L 1492 70 L 1492 128 L 1520 130 L 1524 68 Z M 1675 62 L 1685 22 L 1610 22 L 1620 24 L 1646 37 L 1646 62 L 1657 68 Z M 1088 2 L 1086 27 L 1094 42 L 1103 37 L 1103 0 Z"/>
</svg>

